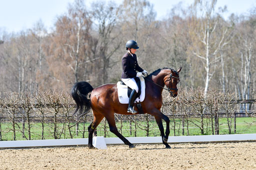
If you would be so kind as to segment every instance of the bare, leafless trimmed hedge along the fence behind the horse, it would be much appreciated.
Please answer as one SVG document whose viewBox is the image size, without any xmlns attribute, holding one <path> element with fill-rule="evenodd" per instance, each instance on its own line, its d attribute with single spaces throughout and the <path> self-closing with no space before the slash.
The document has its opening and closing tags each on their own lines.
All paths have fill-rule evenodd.
<svg viewBox="0 0 256 170">
<path fill-rule="evenodd" d="M 235 112 L 240 105 L 234 102 L 237 97 L 233 92 L 223 93 L 209 89 L 204 96 L 202 88 L 179 89 L 176 98 L 170 97 L 163 91 L 162 99 L 161 111 L 171 120 L 171 129 L 175 136 L 190 135 L 190 126 L 200 129 L 201 134 L 209 132 L 212 135 L 219 134 L 219 117 L 225 118 L 228 134 L 231 134 L 232 126 L 235 126 Z M 74 101 L 68 91 L 38 90 L 34 93 L 1 93 L 0 140 L 6 140 L 2 138 L 6 134 L 12 137 L 8 140 L 16 140 L 17 133 L 21 133 L 25 140 L 74 138 L 78 134 L 86 138 L 87 124 L 92 121 L 93 116 L 89 113 L 77 120 L 72 116 L 74 107 Z M 255 118 L 254 112 L 247 115 Z M 144 136 L 159 136 L 154 118 L 148 114 L 132 116 L 115 114 L 115 119 L 120 133 L 137 136 L 140 130 L 144 132 Z M 3 128 L 6 124 L 8 127 Z M 35 133 L 32 129 L 40 133 Z M 97 130 L 101 131 L 105 137 L 109 136 L 105 120 Z"/>
</svg>

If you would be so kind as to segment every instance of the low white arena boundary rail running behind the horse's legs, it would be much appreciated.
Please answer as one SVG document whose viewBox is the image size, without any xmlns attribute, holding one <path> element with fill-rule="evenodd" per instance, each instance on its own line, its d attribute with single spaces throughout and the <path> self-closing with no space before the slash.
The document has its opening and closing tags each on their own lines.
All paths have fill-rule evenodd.
<svg viewBox="0 0 256 170">
<path fill-rule="evenodd" d="M 128 137 L 132 144 L 160 144 L 161 137 Z M 207 142 L 256 142 L 256 134 L 235 135 L 205 135 L 205 136 L 170 136 L 168 143 L 207 143 Z M 30 141 L 0 141 L 0 148 L 24 147 L 56 147 L 87 145 L 88 138 L 80 139 L 53 139 Z M 106 149 L 106 145 L 123 144 L 119 138 L 93 137 L 93 146 L 97 149 Z"/>
</svg>

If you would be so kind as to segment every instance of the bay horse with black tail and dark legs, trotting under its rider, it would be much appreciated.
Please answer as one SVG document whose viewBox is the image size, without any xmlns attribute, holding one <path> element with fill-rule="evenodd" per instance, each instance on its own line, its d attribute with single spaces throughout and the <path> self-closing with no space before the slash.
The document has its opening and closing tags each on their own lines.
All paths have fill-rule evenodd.
<svg viewBox="0 0 256 170">
<path fill-rule="evenodd" d="M 160 130 L 162 143 L 165 148 L 170 148 L 167 144 L 169 136 L 169 118 L 160 112 L 162 106 L 162 90 L 164 85 L 167 87 L 172 97 L 177 96 L 177 84 L 179 82 L 179 72 L 182 67 L 177 71 L 171 68 L 159 68 L 151 74 L 144 77 L 145 79 L 145 99 L 141 102 L 142 110 L 144 113 L 154 116 L 158 128 Z M 91 92 L 91 93 L 90 93 Z M 87 95 L 90 93 L 89 99 Z M 93 112 L 93 121 L 88 126 L 88 147 L 94 149 L 92 146 L 92 135 L 98 124 L 105 117 L 109 130 L 115 134 L 125 145 L 129 148 L 135 148 L 127 139 L 125 139 L 115 126 L 114 113 L 122 115 L 132 115 L 127 113 L 128 104 L 121 104 L 118 100 L 116 84 L 104 84 L 96 88 L 85 82 L 77 82 L 71 88 L 71 95 L 76 103 L 76 110 L 73 115 L 77 113 L 78 117 L 81 117 L 90 111 Z M 135 108 L 135 110 L 137 110 Z M 138 113 L 136 113 L 138 114 Z M 162 125 L 162 119 L 166 122 L 166 130 L 164 135 L 164 129 Z"/>
</svg>

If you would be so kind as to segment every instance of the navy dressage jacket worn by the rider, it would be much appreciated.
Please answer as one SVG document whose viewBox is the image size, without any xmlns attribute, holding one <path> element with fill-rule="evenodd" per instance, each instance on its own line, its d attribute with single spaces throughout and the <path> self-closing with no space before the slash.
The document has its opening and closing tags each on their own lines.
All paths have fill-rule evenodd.
<svg viewBox="0 0 256 170">
<path fill-rule="evenodd" d="M 126 52 L 122 57 L 122 76 L 121 78 L 134 78 L 137 72 L 142 72 L 143 69 L 139 67 L 136 54 L 130 55 Z"/>
</svg>

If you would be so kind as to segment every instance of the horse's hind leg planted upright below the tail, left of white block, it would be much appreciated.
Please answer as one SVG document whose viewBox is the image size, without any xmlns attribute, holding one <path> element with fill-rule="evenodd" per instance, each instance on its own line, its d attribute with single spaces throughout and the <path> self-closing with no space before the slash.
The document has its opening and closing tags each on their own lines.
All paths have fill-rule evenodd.
<svg viewBox="0 0 256 170">
<path fill-rule="evenodd" d="M 89 133 L 88 147 L 89 147 L 89 149 L 94 149 L 94 147 L 92 145 L 92 135 L 93 135 L 93 132 L 95 131 L 96 127 L 98 126 L 98 124 L 101 122 L 101 120 L 104 117 L 103 115 L 96 113 L 96 112 L 93 112 L 93 115 L 94 115 L 93 121 L 88 126 L 88 133 Z"/>
</svg>

